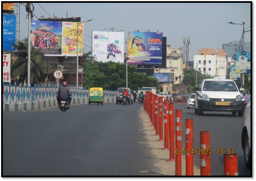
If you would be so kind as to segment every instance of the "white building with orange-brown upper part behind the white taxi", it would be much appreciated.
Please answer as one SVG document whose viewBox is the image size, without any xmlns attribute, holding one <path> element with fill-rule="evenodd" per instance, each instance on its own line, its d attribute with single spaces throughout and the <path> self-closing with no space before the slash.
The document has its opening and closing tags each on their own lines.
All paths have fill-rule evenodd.
<svg viewBox="0 0 256 181">
<path fill-rule="evenodd" d="M 226 78 L 230 63 L 223 49 L 201 48 L 198 55 L 194 55 L 194 69 L 197 67 L 198 71 L 211 76 Z"/>
</svg>

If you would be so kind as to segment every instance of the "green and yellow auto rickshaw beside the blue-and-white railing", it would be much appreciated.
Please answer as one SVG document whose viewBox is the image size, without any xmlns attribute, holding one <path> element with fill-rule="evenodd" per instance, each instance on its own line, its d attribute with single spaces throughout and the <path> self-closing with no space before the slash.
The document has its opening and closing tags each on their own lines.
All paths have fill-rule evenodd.
<svg viewBox="0 0 256 181">
<path fill-rule="evenodd" d="M 89 90 L 89 105 L 91 103 L 101 103 L 103 105 L 104 96 L 103 89 L 101 87 L 92 87 Z"/>
</svg>

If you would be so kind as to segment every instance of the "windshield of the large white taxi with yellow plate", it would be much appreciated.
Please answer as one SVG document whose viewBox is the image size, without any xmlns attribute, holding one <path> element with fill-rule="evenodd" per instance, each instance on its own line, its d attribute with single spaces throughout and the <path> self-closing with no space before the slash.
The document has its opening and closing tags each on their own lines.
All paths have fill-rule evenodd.
<svg viewBox="0 0 256 181">
<path fill-rule="evenodd" d="M 203 91 L 238 91 L 233 81 L 205 81 Z"/>
</svg>

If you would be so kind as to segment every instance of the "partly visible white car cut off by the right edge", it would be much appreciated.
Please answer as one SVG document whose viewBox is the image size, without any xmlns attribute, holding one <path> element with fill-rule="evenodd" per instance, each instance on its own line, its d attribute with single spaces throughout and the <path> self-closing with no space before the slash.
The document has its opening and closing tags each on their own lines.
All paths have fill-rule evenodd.
<svg viewBox="0 0 256 181">
<path fill-rule="evenodd" d="M 245 107 L 243 131 L 242 131 L 242 148 L 244 150 L 245 165 L 251 168 L 251 102 Z"/>
</svg>

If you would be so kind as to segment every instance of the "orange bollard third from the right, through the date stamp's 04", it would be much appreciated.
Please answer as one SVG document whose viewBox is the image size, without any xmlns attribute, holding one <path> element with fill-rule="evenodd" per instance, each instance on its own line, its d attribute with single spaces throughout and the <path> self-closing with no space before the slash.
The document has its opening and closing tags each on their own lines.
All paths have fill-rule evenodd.
<svg viewBox="0 0 256 181">
<path fill-rule="evenodd" d="M 186 175 L 194 175 L 194 155 L 193 150 L 193 119 L 186 119 Z"/>
</svg>

